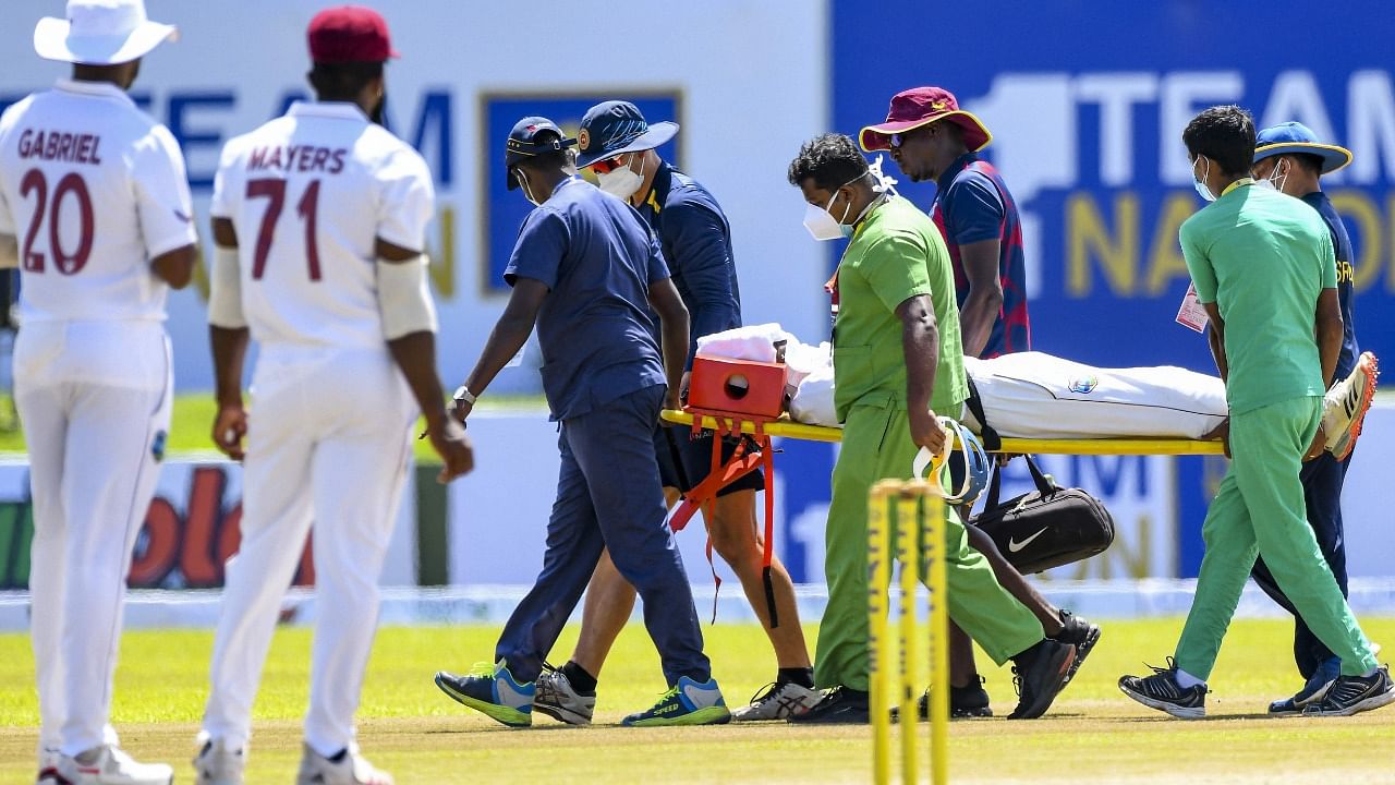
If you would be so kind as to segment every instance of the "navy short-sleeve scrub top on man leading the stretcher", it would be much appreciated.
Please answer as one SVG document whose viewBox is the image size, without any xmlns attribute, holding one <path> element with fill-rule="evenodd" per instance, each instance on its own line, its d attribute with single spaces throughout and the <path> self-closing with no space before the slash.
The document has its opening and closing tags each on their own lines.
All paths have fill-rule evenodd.
<svg viewBox="0 0 1395 785">
<path fill-rule="evenodd" d="M 519 229 L 504 271 L 550 289 L 537 316 L 543 392 L 552 419 L 664 384 L 649 286 L 668 278 L 635 208 L 590 183 L 564 180 Z"/>
</svg>

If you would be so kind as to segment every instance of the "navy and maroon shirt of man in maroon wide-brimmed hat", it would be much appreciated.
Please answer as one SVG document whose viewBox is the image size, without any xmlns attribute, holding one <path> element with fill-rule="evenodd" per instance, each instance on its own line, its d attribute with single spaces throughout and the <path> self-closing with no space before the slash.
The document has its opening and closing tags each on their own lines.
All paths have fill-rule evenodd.
<svg viewBox="0 0 1395 785">
<path fill-rule="evenodd" d="M 982 359 L 1032 348 L 1027 317 L 1027 264 L 1023 257 L 1023 226 L 1017 204 L 997 169 L 967 152 L 940 175 L 930 218 L 940 228 L 954 264 L 954 292 L 958 306 L 968 299 L 968 278 L 960 260 L 960 246 L 983 240 L 999 242 L 997 279 L 1003 306 L 993 331 L 979 355 Z"/>
</svg>

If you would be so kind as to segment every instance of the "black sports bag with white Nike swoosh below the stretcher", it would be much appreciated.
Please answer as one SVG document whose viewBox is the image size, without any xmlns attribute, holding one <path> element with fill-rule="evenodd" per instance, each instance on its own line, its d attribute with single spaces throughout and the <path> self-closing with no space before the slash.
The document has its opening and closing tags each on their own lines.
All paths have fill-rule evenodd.
<svg viewBox="0 0 1395 785">
<path fill-rule="evenodd" d="M 1023 574 L 1041 573 L 1103 553 L 1115 541 L 1115 520 L 1098 499 L 1060 487 L 1024 455 L 1036 490 L 999 503 L 1002 469 L 993 472 L 983 513 L 970 522 L 993 539 Z"/>
</svg>

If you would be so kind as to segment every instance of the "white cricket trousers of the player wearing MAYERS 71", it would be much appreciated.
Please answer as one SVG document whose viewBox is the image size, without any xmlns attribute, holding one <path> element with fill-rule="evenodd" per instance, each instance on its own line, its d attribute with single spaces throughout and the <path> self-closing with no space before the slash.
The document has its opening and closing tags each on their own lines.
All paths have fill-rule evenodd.
<svg viewBox="0 0 1395 785">
<path fill-rule="evenodd" d="M 280 602 L 314 521 L 315 637 L 306 742 L 354 740 L 378 577 L 417 406 L 382 349 L 262 346 L 252 376 L 241 545 L 227 560 L 204 731 L 243 746 Z"/>
</svg>

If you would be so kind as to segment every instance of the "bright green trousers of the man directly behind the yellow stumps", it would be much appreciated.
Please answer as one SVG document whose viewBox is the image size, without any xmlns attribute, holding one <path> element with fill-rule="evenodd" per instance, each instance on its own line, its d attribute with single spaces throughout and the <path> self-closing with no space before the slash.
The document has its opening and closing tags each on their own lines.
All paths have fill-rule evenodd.
<svg viewBox="0 0 1395 785">
<path fill-rule="evenodd" d="M 829 606 L 813 668 L 820 687 L 868 689 L 868 492 L 879 479 L 910 479 L 918 450 L 904 405 L 859 405 L 848 412 L 824 541 Z M 1041 641 L 1041 622 L 999 585 L 949 508 L 943 531 L 950 617 L 999 665 Z"/>
</svg>

